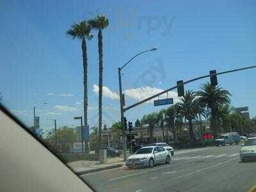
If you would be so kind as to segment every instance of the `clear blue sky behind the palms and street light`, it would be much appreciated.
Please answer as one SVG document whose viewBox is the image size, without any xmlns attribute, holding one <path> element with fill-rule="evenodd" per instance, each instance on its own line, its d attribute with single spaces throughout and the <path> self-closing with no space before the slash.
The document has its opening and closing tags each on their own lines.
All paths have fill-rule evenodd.
<svg viewBox="0 0 256 192">
<path fill-rule="evenodd" d="M 255 1 L 1 1 L 0 92 L 3 103 L 28 125 L 32 109 L 41 127 L 51 129 L 47 118 L 58 125 L 77 125 L 83 112 L 83 65 L 81 42 L 65 31 L 74 22 L 106 15 L 103 32 L 103 124 L 119 119 L 117 68 L 134 54 L 147 52 L 124 68 L 126 104 L 175 85 L 180 79 L 255 65 Z M 97 31 L 88 45 L 88 120 L 97 125 L 99 63 Z M 185 86 L 198 90 L 208 79 Z M 255 70 L 218 77 L 232 93 L 232 105 L 248 106 L 256 115 Z M 94 90 L 94 91 L 93 91 Z M 175 97 L 175 92 L 169 97 Z M 166 95 L 164 95 L 166 97 Z M 165 106 L 166 107 L 166 106 Z M 152 102 L 127 111 L 134 122 L 159 111 Z"/>
</svg>

